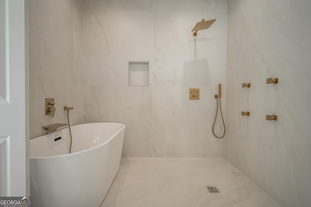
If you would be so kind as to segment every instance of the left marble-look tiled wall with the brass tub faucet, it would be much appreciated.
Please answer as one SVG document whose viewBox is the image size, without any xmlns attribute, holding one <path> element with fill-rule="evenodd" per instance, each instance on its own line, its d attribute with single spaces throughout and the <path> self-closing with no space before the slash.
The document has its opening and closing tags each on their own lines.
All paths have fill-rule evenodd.
<svg viewBox="0 0 311 207">
<path fill-rule="evenodd" d="M 41 127 L 84 123 L 82 0 L 29 1 L 30 137 Z M 55 98 L 55 116 L 45 115 L 45 98 Z"/>
</svg>

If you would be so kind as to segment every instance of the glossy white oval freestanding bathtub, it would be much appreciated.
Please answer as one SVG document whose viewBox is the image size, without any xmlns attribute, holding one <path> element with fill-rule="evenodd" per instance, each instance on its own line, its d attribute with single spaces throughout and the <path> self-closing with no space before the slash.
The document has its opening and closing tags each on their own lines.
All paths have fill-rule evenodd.
<svg viewBox="0 0 311 207">
<path fill-rule="evenodd" d="M 99 207 L 120 167 L 125 126 L 92 123 L 30 140 L 33 207 Z"/>
</svg>

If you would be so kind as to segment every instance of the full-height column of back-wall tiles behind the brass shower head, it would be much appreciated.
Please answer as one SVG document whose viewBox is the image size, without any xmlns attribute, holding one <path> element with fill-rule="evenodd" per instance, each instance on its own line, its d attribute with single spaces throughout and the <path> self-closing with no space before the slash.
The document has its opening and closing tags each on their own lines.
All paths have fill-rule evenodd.
<svg viewBox="0 0 311 207">
<path fill-rule="evenodd" d="M 203 17 L 217 20 L 193 37 Z M 224 156 L 212 125 L 218 83 L 225 94 L 226 21 L 226 1 L 154 1 L 154 157 Z M 200 88 L 200 100 L 189 100 L 189 88 Z"/>
</svg>

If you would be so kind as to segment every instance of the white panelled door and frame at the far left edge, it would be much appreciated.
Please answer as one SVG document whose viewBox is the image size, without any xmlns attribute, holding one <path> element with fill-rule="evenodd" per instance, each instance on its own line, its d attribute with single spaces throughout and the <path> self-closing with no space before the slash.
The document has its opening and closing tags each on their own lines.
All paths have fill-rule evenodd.
<svg viewBox="0 0 311 207">
<path fill-rule="evenodd" d="M 0 30 L 5 32 L 0 35 L 1 48 L 5 48 L 4 55 L 0 53 L 0 62 L 5 63 L 0 66 L 0 76 L 5 76 L 4 84 L 3 80 L 0 84 L 0 196 L 26 196 L 29 195 L 27 2 L 0 1 L 0 9 L 5 8 L 5 21 L 0 17 Z"/>
</svg>

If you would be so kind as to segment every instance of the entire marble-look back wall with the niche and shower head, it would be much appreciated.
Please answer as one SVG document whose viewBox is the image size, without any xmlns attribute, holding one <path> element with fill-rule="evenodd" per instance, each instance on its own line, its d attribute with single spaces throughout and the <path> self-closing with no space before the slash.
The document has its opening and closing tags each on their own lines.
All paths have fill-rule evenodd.
<svg viewBox="0 0 311 207">
<path fill-rule="evenodd" d="M 85 122 L 126 125 L 123 157 L 224 157 L 213 137 L 225 94 L 226 0 L 91 0 L 83 5 Z M 192 36 L 202 18 L 217 18 Z M 128 86 L 128 62 L 149 62 L 149 86 Z M 200 88 L 200 100 L 189 100 Z M 225 96 L 223 96 L 225 111 Z M 222 133 L 218 120 L 217 132 Z"/>
</svg>

